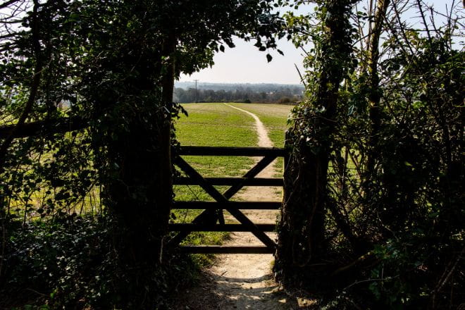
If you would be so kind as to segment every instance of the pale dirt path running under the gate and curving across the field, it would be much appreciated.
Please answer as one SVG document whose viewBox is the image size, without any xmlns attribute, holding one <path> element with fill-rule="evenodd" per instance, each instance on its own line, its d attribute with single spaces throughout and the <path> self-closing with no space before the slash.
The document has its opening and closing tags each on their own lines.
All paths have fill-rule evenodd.
<svg viewBox="0 0 465 310">
<path fill-rule="evenodd" d="M 261 120 L 254 114 L 230 104 L 249 114 L 255 120 L 255 128 L 259 137 L 259 147 L 273 147 Z M 256 159 L 258 161 L 259 159 Z M 259 177 L 272 178 L 276 171 L 274 162 L 265 168 Z M 246 187 L 235 199 L 247 201 L 276 201 L 282 197 L 276 187 Z M 254 223 L 275 223 L 278 211 L 275 210 L 243 210 Z M 235 219 L 225 214 L 229 223 Z M 275 233 L 269 233 L 275 239 Z M 225 245 L 263 245 L 252 233 L 232 233 L 231 240 Z M 278 284 L 271 275 L 272 254 L 221 254 L 218 260 L 206 271 L 206 281 L 201 287 L 190 292 L 189 302 L 185 309 L 292 309 L 285 294 L 280 292 Z"/>
</svg>

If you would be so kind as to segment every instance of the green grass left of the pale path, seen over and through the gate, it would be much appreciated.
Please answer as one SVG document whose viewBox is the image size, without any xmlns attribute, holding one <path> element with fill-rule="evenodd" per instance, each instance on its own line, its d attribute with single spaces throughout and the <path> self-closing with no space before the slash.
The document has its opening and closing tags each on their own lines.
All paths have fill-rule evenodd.
<svg viewBox="0 0 465 310">
<path fill-rule="evenodd" d="M 253 147 L 257 143 L 254 120 L 245 113 L 231 109 L 224 104 L 185 104 L 189 114 L 175 124 L 176 135 L 181 145 L 215 146 L 215 147 Z M 191 166 L 204 176 L 239 176 L 252 166 L 254 161 L 247 157 L 232 156 L 184 156 Z M 227 187 L 216 187 L 224 192 Z M 211 201 L 199 186 L 174 187 L 175 200 Z M 175 223 L 190 223 L 202 210 L 175 210 Z M 228 233 L 195 232 L 185 240 L 185 244 L 221 244 Z M 199 264 L 209 263 L 211 256 L 196 255 L 194 261 Z"/>
</svg>

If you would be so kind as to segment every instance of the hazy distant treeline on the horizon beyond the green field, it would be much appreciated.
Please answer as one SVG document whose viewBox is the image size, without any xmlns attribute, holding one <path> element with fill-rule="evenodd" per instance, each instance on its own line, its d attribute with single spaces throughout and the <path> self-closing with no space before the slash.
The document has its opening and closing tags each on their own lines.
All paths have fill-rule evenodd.
<svg viewBox="0 0 465 310">
<path fill-rule="evenodd" d="M 187 102 L 262 102 L 292 104 L 302 99 L 300 87 L 278 87 L 271 91 L 255 91 L 251 87 L 239 87 L 235 90 L 213 90 L 178 88 L 174 89 L 174 101 Z"/>
</svg>

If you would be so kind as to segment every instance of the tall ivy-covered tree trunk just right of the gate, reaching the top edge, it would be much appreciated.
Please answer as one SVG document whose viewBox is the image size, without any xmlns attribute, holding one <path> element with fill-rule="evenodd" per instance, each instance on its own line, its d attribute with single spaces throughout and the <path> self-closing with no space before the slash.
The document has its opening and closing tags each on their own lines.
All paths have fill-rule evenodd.
<svg viewBox="0 0 465 310">
<path fill-rule="evenodd" d="M 287 132 L 290 156 L 275 261 L 275 275 L 285 284 L 308 281 L 311 266 L 320 266 L 326 249 L 328 164 L 335 151 L 339 88 L 351 53 L 352 2 L 328 0 L 318 7 L 321 24 L 314 29 L 316 56 L 310 59 L 315 71 L 307 76 L 307 98 L 293 110 Z"/>
</svg>

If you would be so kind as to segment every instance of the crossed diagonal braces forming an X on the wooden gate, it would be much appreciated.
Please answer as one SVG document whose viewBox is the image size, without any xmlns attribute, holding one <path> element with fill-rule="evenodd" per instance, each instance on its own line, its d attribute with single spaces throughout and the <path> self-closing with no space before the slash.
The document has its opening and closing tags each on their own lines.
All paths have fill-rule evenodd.
<svg viewBox="0 0 465 310">
<path fill-rule="evenodd" d="M 270 156 L 265 156 L 261 161 L 259 161 L 252 169 L 250 169 L 243 178 L 254 178 L 260 171 L 263 170 L 266 166 L 268 166 L 274 159 L 276 158 L 275 155 L 270 155 Z M 184 159 L 182 159 L 180 156 L 177 156 L 175 159 L 176 165 L 182 169 L 187 175 L 189 175 L 191 178 L 194 180 L 197 180 L 199 182 L 199 185 L 211 196 L 213 199 L 216 200 L 216 202 L 223 202 L 227 203 L 228 199 L 233 197 L 233 195 L 244 186 L 242 183 L 237 184 L 235 186 L 230 187 L 224 194 L 221 194 L 216 190 L 213 185 L 209 184 L 202 175 L 200 175 L 192 166 L 189 165 Z M 251 233 L 253 233 L 263 244 L 265 244 L 267 247 L 272 247 L 275 248 L 276 244 L 273 242 L 273 240 L 266 235 L 266 233 L 263 233 L 259 228 L 247 218 L 247 216 L 244 215 L 239 209 L 236 208 L 226 208 L 226 210 L 231 213 L 237 221 L 242 223 L 242 225 L 246 225 L 250 228 Z M 199 224 L 199 223 L 206 223 L 206 222 L 212 222 L 216 223 L 216 210 L 205 210 L 202 213 L 197 216 L 197 218 L 192 221 L 194 224 Z M 173 237 L 170 243 L 173 244 L 179 244 L 187 235 L 189 235 L 190 232 L 180 232 L 178 235 Z"/>
</svg>

